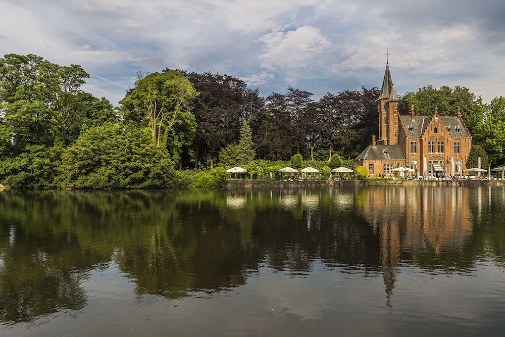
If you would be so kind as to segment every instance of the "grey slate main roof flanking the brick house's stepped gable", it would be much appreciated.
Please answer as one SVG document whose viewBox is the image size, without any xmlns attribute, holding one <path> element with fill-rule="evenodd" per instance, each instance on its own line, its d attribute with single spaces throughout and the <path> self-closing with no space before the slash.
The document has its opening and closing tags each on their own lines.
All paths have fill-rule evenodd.
<svg viewBox="0 0 505 337">
<path fill-rule="evenodd" d="M 458 117 L 439 116 L 439 118 L 446 128 L 450 125 L 449 134 L 452 138 L 470 138 L 470 134 Z M 421 137 L 433 116 L 414 116 L 414 120 L 412 120 L 410 115 L 400 115 L 400 119 L 403 126 L 405 126 L 407 137 Z M 458 125 L 460 126 L 459 132 L 456 130 Z M 409 131 L 410 126 L 412 126 L 412 131 Z"/>
</svg>

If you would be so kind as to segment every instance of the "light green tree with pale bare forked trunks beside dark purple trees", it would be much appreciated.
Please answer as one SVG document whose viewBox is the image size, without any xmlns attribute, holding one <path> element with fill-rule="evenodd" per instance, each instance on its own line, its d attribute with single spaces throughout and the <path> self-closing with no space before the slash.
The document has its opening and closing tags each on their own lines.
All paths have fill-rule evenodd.
<svg viewBox="0 0 505 337">
<path fill-rule="evenodd" d="M 162 135 L 170 133 L 177 121 L 190 119 L 185 115 L 195 96 L 196 90 L 184 75 L 168 70 L 138 79 L 135 88 L 119 103 L 139 114 L 159 147 Z"/>
</svg>

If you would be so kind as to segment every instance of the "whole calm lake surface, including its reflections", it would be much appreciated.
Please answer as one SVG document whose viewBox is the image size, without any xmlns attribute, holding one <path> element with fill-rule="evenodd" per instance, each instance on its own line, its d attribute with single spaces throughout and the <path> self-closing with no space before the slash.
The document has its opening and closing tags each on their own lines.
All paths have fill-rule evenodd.
<svg viewBox="0 0 505 337">
<path fill-rule="evenodd" d="M 0 192 L 0 335 L 505 333 L 505 187 Z"/>
</svg>

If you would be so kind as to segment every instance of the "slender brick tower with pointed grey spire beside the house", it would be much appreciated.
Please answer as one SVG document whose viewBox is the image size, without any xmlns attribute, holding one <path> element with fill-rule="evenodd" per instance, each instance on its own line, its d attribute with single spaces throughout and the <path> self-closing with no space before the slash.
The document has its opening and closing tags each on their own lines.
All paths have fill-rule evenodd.
<svg viewBox="0 0 505 337">
<path fill-rule="evenodd" d="M 379 141 L 383 145 L 398 144 L 398 96 L 394 90 L 386 60 L 386 72 L 382 81 L 382 89 L 377 99 L 379 112 Z"/>
</svg>

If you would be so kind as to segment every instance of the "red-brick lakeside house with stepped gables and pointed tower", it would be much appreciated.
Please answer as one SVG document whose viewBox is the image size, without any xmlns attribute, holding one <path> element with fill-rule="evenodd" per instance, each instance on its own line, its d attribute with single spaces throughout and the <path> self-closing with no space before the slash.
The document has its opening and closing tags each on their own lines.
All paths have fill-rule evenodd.
<svg viewBox="0 0 505 337">
<path fill-rule="evenodd" d="M 386 63 L 382 89 L 377 99 L 379 136 L 356 159 L 356 165 L 368 169 L 368 175 L 392 175 L 392 169 L 410 167 L 423 176 L 462 175 L 472 137 L 460 108 L 455 116 L 416 116 L 414 106 L 408 115 L 399 115 L 398 97 Z"/>
</svg>

